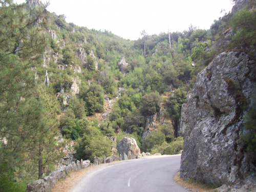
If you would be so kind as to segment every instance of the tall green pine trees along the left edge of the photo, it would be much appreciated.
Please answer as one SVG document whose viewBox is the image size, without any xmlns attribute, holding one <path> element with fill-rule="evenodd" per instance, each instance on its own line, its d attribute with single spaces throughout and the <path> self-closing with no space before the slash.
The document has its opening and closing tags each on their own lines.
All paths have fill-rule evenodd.
<svg viewBox="0 0 256 192">
<path fill-rule="evenodd" d="M 41 177 L 50 162 L 56 163 L 50 152 L 55 152 L 51 147 L 57 144 L 58 124 L 56 105 L 46 88 L 38 86 L 40 94 L 35 92 L 31 70 L 40 64 L 47 45 L 46 6 L 31 8 L 10 0 L 0 4 L 0 180 L 13 172 L 19 178 L 35 172 L 35 161 Z"/>
</svg>

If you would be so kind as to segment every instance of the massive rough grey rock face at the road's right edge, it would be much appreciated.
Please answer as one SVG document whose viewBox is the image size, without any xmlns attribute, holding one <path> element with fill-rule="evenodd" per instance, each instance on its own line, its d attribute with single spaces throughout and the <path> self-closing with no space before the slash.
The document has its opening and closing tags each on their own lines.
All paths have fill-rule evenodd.
<svg viewBox="0 0 256 192">
<path fill-rule="evenodd" d="M 181 177 L 223 184 L 255 172 L 241 134 L 246 110 L 256 106 L 256 62 L 224 52 L 198 74 L 187 104 Z"/>
</svg>

